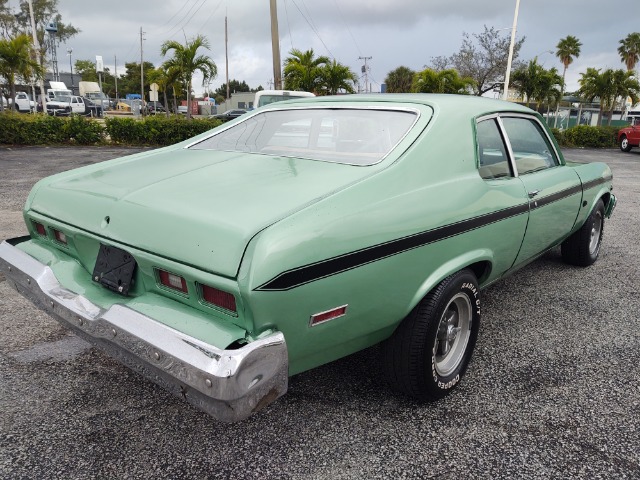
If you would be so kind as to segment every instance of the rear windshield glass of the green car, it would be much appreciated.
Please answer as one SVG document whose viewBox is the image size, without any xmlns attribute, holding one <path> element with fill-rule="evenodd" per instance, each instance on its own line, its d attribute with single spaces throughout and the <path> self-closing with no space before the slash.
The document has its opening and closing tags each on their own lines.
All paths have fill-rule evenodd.
<svg viewBox="0 0 640 480">
<path fill-rule="evenodd" d="M 398 144 L 417 117 L 416 112 L 405 110 L 272 110 L 247 118 L 190 148 L 372 165 Z"/>
</svg>

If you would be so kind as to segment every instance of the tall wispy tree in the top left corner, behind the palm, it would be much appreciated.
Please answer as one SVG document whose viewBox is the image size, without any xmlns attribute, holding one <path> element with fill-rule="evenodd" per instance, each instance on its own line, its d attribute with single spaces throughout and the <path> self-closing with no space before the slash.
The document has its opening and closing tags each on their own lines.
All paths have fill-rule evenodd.
<svg viewBox="0 0 640 480">
<path fill-rule="evenodd" d="M 80 30 L 71 24 L 63 23 L 62 16 L 58 12 L 58 0 L 33 0 L 33 16 L 36 23 L 36 35 L 40 44 L 40 61 L 46 64 L 45 58 L 49 45 L 45 42 L 45 27 L 50 21 L 56 23 L 56 41 L 64 43 L 74 37 Z M 29 15 L 29 3 L 21 1 L 18 11 L 13 11 L 8 5 L 0 5 L 0 26 L 5 38 L 13 37 L 19 33 L 31 31 L 31 17 Z M 2 21 L 4 19 L 4 21 Z"/>
</svg>

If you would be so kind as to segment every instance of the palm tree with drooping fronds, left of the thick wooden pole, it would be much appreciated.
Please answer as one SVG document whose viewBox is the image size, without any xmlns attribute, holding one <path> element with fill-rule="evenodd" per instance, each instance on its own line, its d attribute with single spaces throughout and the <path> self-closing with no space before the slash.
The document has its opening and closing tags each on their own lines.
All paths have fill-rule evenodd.
<svg viewBox="0 0 640 480">
<path fill-rule="evenodd" d="M 191 81 L 195 72 L 202 73 L 204 86 L 208 80 L 216 77 L 218 68 L 209 57 L 198 55 L 198 49 L 210 49 L 209 41 L 203 35 L 187 40 L 185 45 L 175 40 L 167 40 L 162 44 L 160 53 L 165 56 L 169 51 L 173 51 L 173 57 L 164 62 L 165 70 L 175 70 L 176 75 L 182 80 L 187 89 L 187 118 L 191 118 Z"/>
</svg>

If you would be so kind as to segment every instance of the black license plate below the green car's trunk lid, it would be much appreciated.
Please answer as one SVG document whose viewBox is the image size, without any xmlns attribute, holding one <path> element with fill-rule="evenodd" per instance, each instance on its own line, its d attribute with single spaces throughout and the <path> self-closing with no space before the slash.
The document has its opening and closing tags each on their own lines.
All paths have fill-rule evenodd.
<svg viewBox="0 0 640 480">
<path fill-rule="evenodd" d="M 129 252 L 100 244 L 98 258 L 93 268 L 93 281 L 126 296 L 133 285 L 136 266 L 136 261 Z"/>
</svg>

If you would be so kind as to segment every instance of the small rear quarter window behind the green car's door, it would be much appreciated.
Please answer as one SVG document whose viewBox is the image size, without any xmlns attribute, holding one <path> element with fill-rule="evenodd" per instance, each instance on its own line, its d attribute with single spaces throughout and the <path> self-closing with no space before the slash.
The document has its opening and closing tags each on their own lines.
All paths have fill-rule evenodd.
<svg viewBox="0 0 640 480">
<path fill-rule="evenodd" d="M 480 176 L 484 179 L 510 177 L 507 150 L 495 118 L 478 122 L 476 128 Z"/>
</svg>

